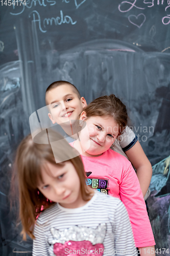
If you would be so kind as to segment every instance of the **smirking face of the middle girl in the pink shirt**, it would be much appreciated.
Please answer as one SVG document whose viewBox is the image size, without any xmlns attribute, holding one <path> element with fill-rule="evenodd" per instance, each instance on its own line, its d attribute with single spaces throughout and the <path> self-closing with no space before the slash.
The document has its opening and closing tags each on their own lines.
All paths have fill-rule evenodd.
<svg viewBox="0 0 170 256">
<path fill-rule="evenodd" d="M 87 118 L 83 111 L 81 120 L 87 124 L 87 129 L 82 129 L 80 134 L 84 156 L 96 157 L 102 155 L 113 144 L 119 134 L 119 126 L 113 117 L 93 116 Z"/>
</svg>

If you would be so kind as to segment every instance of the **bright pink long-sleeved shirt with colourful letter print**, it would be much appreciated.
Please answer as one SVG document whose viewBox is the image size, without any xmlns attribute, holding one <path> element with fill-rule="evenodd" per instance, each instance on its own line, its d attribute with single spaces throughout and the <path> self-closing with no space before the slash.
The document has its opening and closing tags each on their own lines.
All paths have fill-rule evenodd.
<svg viewBox="0 0 170 256">
<path fill-rule="evenodd" d="M 117 197 L 125 204 L 136 247 L 155 245 L 140 184 L 130 161 L 110 148 L 99 157 L 81 157 L 87 185 Z"/>
</svg>

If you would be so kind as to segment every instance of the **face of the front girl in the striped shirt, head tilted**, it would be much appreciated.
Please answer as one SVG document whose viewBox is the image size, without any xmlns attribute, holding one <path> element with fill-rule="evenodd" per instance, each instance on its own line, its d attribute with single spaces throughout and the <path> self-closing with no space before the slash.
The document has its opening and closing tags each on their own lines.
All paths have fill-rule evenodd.
<svg viewBox="0 0 170 256">
<path fill-rule="evenodd" d="M 41 172 L 43 182 L 38 184 L 38 189 L 47 199 L 58 202 L 65 208 L 77 208 L 84 204 L 80 193 L 80 179 L 70 161 L 61 166 L 47 162 Z"/>
</svg>

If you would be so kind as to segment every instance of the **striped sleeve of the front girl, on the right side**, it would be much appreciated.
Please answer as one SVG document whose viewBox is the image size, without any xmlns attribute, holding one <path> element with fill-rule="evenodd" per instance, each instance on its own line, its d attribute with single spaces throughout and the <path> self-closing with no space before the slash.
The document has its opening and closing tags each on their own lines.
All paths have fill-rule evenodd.
<svg viewBox="0 0 170 256">
<path fill-rule="evenodd" d="M 117 205 L 114 217 L 115 255 L 135 256 L 136 247 L 128 212 L 121 201 Z"/>
</svg>

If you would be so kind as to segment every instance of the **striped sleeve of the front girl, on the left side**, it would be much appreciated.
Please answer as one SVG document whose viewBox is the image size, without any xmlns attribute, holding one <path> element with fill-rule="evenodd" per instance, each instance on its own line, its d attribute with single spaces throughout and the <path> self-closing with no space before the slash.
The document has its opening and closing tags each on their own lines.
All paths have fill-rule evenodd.
<svg viewBox="0 0 170 256">
<path fill-rule="evenodd" d="M 48 243 L 47 239 L 43 230 L 43 226 L 39 219 L 34 227 L 34 236 L 35 239 L 33 240 L 33 256 L 49 256 L 48 254 Z"/>
</svg>

